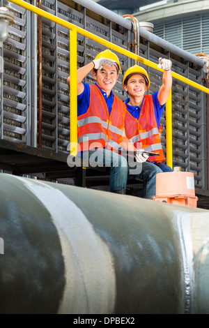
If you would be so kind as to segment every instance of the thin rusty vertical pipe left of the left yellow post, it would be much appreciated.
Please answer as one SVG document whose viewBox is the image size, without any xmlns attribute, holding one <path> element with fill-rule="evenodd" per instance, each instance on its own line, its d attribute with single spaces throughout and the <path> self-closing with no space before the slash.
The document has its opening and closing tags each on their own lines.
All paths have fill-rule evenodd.
<svg viewBox="0 0 209 328">
<path fill-rule="evenodd" d="M 38 0 L 38 8 L 42 8 L 42 0 Z M 38 57 L 39 57 L 39 148 L 42 148 L 42 17 L 38 16 Z"/>
</svg>

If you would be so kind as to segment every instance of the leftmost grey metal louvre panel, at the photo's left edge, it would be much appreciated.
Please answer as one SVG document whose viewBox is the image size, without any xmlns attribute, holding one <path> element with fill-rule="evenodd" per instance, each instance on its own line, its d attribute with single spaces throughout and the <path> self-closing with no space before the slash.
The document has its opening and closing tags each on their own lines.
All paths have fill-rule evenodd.
<svg viewBox="0 0 209 328">
<path fill-rule="evenodd" d="M 3 1 L 8 6 L 7 1 Z M 28 47 L 26 43 L 26 10 L 10 4 L 15 23 L 9 27 L 8 38 L 3 43 L 3 111 L 1 111 L 1 139 L 26 144 L 28 102 Z"/>
</svg>

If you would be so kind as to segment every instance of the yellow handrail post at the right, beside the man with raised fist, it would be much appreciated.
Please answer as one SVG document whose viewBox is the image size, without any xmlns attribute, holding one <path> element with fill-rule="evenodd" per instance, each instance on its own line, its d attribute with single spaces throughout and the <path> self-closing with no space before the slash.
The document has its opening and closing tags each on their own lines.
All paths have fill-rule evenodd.
<svg viewBox="0 0 209 328">
<path fill-rule="evenodd" d="M 173 149 L 172 149 L 172 96 L 166 103 L 166 140 L 167 140 L 167 165 L 173 169 Z"/>
</svg>

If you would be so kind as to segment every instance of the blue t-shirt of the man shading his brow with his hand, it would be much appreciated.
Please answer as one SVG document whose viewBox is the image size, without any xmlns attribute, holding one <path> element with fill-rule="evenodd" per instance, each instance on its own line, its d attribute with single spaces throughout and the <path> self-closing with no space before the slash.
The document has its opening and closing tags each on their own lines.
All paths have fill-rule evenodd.
<svg viewBox="0 0 209 328">
<path fill-rule="evenodd" d="M 84 82 L 82 82 L 82 83 L 84 84 L 84 91 L 82 92 L 82 94 L 77 96 L 77 116 L 85 114 L 88 110 L 89 103 L 90 103 L 90 87 L 89 87 L 89 84 L 84 83 Z M 95 85 L 98 87 L 98 84 L 95 83 Z M 98 87 L 98 89 L 100 89 L 100 87 Z M 101 91 L 101 93 L 104 97 L 104 100 L 107 103 L 107 108 L 108 108 L 109 115 L 110 115 L 111 106 L 112 106 L 113 101 L 114 101 L 114 94 L 111 91 L 109 97 L 107 98 L 107 94 L 104 91 L 102 91 L 102 89 L 100 89 L 100 91 Z"/>
</svg>

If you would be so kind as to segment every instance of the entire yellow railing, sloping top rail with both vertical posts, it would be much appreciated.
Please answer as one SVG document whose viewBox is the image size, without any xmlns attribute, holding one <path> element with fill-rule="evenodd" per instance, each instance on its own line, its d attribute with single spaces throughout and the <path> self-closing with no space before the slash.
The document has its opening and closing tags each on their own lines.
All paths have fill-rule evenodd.
<svg viewBox="0 0 209 328">
<path fill-rule="evenodd" d="M 160 68 L 157 67 L 157 64 L 153 63 L 152 61 L 149 61 L 148 59 L 144 59 L 138 56 L 137 54 L 133 54 L 132 52 L 125 50 L 122 47 L 119 47 L 118 45 L 114 45 L 114 43 L 104 40 L 99 36 L 95 36 L 93 33 L 85 31 L 81 27 L 77 27 L 76 25 L 70 22 L 66 22 L 65 20 L 62 20 L 59 17 L 47 13 L 45 10 L 37 8 L 22 0 L 10 0 L 10 2 L 15 3 L 17 6 L 21 6 L 26 10 L 30 10 L 32 13 L 45 17 L 47 20 L 51 20 L 56 24 L 59 24 L 63 27 L 70 29 L 70 77 L 71 77 L 70 81 L 72 81 L 70 83 L 70 144 L 71 143 L 74 145 L 77 144 L 77 97 L 76 97 L 77 95 L 77 33 L 82 34 L 83 36 L 86 36 L 86 38 L 90 38 L 91 40 L 94 40 L 95 42 L 98 42 L 101 45 L 110 48 L 111 50 L 124 54 L 125 56 L 130 57 L 135 61 L 139 61 L 141 64 L 162 71 Z M 189 80 L 186 77 L 179 75 L 178 73 L 172 72 L 172 76 L 177 80 L 180 80 L 196 89 L 206 92 L 206 94 L 209 94 L 209 89 L 203 87 L 201 84 Z M 171 113 L 172 112 L 171 112 L 171 95 L 170 95 L 167 103 L 167 110 L 166 110 L 167 165 L 172 167 L 173 164 L 172 164 L 172 114 Z M 70 149 L 70 154 L 75 156 L 77 154 L 77 149 L 75 149 L 75 147 L 74 149 Z"/>
</svg>

